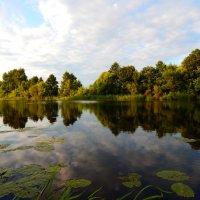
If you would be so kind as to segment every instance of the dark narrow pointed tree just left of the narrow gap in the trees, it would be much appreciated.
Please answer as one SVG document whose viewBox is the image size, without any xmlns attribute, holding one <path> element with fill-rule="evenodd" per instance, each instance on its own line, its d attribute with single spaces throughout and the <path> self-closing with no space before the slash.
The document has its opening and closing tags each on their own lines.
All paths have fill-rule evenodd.
<svg viewBox="0 0 200 200">
<path fill-rule="evenodd" d="M 45 82 L 45 96 L 53 97 L 58 95 L 58 81 L 56 77 L 51 74 Z"/>
</svg>

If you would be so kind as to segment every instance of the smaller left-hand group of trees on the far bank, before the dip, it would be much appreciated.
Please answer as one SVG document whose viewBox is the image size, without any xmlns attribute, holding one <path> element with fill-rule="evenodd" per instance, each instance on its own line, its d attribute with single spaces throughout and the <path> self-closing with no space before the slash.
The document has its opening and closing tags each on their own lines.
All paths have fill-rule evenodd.
<svg viewBox="0 0 200 200">
<path fill-rule="evenodd" d="M 56 77 L 51 74 L 46 81 L 33 76 L 28 79 L 24 69 L 14 69 L 4 73 L 0 82 L 0 97 L 23 97 L 27 99 L 43 99 L 45 97 L 72 96 L 82 84 L 68 72 L 63 75 L 61 87 Z"/>
</svg>

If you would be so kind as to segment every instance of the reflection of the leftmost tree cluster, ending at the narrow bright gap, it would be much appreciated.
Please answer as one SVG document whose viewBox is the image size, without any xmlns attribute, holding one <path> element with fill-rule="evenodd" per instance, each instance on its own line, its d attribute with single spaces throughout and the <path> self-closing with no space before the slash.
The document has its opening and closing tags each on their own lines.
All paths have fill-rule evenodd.
<svg viewBox="0 0 200 200">
<path fill-rule="evenodd" d="M 10 127 L 25 128 L 28 118 L 37 122 L 47 117 L 50 123 L 56 121 L 58 116 L 58 103 L 49 102 L 26 102 L 26 101 L 2 101 L 0 103 L 0 114 L 3 123 Z"/>
</svg>

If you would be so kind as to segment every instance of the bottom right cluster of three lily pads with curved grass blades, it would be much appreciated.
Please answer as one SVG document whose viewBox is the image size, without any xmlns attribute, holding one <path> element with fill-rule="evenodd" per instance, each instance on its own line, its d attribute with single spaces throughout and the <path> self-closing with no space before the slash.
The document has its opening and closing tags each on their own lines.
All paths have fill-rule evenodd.
<svg viewBox="0 0 200 200">
<path fill-rule="evenodd" d="M 154 189 L 158 191 L 158 194 L 155 193 L 154 195 L 151 195 L 151 196 L 147 195 L 146 197 L 143 197 L 142 199 L 145 199 L 145 200 L 163 199 L 165 194 L 176 194 L 177 196 L 180 196 L 180 197 L 194 197 L 195 196 L 194 191 L 190 186 L 182 182 L 179 182 L 179 181 L 186 181 L 190 178 L 184 172 L 176 171 L 176 170 L 162 170 L 162 171 L 157 172 L 156 176 L 164 180 L 175 181 L 175 183 L 171 185 L 171 188 L 170 188 L 171 190 L 162 189 L 160 188 L 160 186 L 156 186 L 156 185 L 147 185 L 140 188 L 140 186 L 142 185 L 142 182 L 140 180 L 142 176 L 137 173 L 130 173 L 128 174 L 128 176 L 119 177 L 119 179 L 122 181 L 122 185 L 127 188 L 139 187 L 140 190 L 136 193 L 134 191 L 128 192 L 127 194 L 125 194 L 123 197 L 119 199 L 126 199 L 126 197 L 128 197 L 128 199 L 133 199 L 133 200 L 141 199 L 142 195 L 146 196 L 145 192 L 146 190 L 149 190 L 149 189 Z"/>
</svg>

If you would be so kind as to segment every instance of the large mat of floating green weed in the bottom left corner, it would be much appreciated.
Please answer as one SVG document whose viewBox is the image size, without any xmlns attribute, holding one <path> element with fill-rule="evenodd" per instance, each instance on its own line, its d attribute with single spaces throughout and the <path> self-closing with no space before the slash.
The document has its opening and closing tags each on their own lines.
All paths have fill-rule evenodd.
<svg viewBox="0 0 200 200">
<path fill-rule="evenodd" d="M 40 165 L 27 165 L 17 169 L 0 169 L 0 197 L 13 194 L 16 198 L 35 199 L 42 188 L 63 165 L 43 168 Z"/>
</svg>

